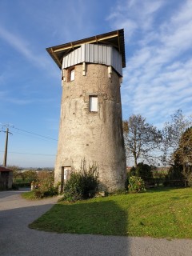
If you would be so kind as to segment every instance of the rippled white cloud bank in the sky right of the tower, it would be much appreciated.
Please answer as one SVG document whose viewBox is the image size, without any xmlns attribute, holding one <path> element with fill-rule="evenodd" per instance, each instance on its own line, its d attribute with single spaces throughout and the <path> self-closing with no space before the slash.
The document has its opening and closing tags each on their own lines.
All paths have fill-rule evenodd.
<svg viewBox="0 0 192 256">
<path fill-rule="evenodd" d="M 138 1 L 132 1 L 130 8 L 136 4 Z M 134 38 L 137 47 L 127 58 L 124 70 L 122 105 L 125 117 L 130 112 L 141 113 L 152 122 L 164 122 L 178 108 L 188 111 L 192 98 L 192 2 L 182 2 L 171 12 L 169 20 L 162 20 L 157 26 L 153 21 L 161 8 L 166 12 L 166 2 L 159 1 L 155 6 L 154 1 L 145 1 L 138 10 L 143 12 L 139 18 L 135 13 L 135 17 L 130 18 L 130 10 L 128 14 L 122 12 L 121 18 L 116 15 L 115 26 L 120 26 L 122 19 L 130 19 L 136 23 L 137 30 L 145 30 Z M 147 30 L 141 24 L 145 19 L 149 21 Z M 126 42 L 128 50 L 132 44 L 132 41 Z"/>
</svg>

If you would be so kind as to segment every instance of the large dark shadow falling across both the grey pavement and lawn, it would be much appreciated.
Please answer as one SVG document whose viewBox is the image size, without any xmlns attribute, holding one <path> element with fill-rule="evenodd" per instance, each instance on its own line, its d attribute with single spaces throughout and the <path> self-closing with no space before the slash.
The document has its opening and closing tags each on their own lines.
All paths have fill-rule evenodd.
<svg viewBox="0 0 192 256">
<path fill-rule="evenodd" d="M 119 209 L 114 202 L 91 202 L 87 204 L 88 206 L 86 203 L 71 205 L 59 203 L 48 212 L 46 210 L 50 209 L 50 204 L 30 206 L 29 203 L 27 207 L 23 207 L 22 203 L 19 205 L 20 208 L 17 209 L 0 211 L 1 255 L 130 255 L 128 238 L 90 234 L 92 227 L 98 234 L 102 233 L 102 230 L 109 230 L 107 234 L 119 234 L 119 230 L 125 230 L 126 214 L 121 212 L 118 215 Z M 109 221 L 110 214 L 114 217 L 114 222 Z M 42 217 L 38 218 L 41 215 Z M 52 230 L 51 226 L 57 229 L 61 225 L 68 233 L 71 230 L 71 233 L 77 234 L 56 234 L 31 230 L 28 225 L 35 218 L 38 218 L 38 221 L 34 222 L 36 224 L 44 218 L 44 221 L 41 221 L 44 222 L 43 230 L 47 231 L 46 226 Z M 85 229 L 86 234 L 78 235 L 82 233 L 82 228 Z"/>
</svg>

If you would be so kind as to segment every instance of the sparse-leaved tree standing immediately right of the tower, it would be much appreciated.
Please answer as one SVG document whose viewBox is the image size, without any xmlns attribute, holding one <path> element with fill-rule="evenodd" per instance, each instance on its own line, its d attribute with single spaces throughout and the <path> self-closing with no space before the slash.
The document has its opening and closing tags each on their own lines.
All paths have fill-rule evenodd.
<svg viewBox="0 0 192 256">
<path fill-rule="evenodd" d="M 138 160 L 148 163 L 156 162 L 157 152 L 162 142 L 161 131 L 146 122 L 146 118 L 141 114 L 131 115 L 128 120 L 123 121 L 122 127 L 126 157 L 134 158 L 134 166 L 138 165 Z"/>
</svg>

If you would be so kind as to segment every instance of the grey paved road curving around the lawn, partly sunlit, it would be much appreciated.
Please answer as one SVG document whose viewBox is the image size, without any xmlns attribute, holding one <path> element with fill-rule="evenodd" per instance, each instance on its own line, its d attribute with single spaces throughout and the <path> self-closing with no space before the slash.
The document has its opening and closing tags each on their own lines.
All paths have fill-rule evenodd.
<svg viewBox="0 0 192 256">
<path fill-rule="evenodd" d="M 55 234 L 30 230 L 28 224 L 57 198 L 26 201 L 20 191 L 0 192 L 1 256 L 191 256 L 192 240 Z"/>
</svg>

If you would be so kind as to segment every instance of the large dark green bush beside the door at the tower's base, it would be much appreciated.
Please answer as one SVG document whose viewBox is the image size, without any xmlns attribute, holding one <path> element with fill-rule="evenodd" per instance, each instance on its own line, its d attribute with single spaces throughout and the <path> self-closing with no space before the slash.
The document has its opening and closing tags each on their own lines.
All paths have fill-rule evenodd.
<svg viewBox="0 0 192 256">
<path fill-rule="evenodd" d="M 62 200 L 75 202 L 82 199 L 93 198 L 98 190 L 98 165 L 94 163 L 86 170 L 74 171 L 64 186 L 64 196 Z"/>
</svg>

